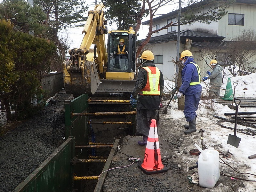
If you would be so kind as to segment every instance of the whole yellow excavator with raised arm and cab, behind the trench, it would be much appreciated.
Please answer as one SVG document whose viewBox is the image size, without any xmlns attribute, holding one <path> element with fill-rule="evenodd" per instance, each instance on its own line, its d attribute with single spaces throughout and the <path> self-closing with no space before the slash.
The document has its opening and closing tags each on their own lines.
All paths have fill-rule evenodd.
<svg viewBox="0 0 256 192">
<path fill-rule="evenodd" d="M 89 11 L 84 25 L 83 41 L 79 48 L 70 49 L 70 60 L 63 62 L 64 84 L 67 93 L 76 96 L 95 92 L 131 93 L 135 84 L 135 42 L 134 30 L 108 31 L 104 18 L 104 5 L 95 5 Z M 105 34 L 108 34 L 106 48 Z M 116 68 L 114 49 L 123 39 L 128 47 L 128 56 L 118 59 Z M 89 52 L 94 44 L 94 52 Z"/>
</svg>

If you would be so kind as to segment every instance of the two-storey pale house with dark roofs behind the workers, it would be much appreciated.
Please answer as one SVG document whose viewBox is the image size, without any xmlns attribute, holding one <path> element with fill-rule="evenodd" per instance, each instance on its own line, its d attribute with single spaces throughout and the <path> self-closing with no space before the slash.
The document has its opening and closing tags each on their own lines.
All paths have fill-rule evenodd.
<svg viewBox="0 0 256 192">
<path fill-rule="evenodd" d="M 210 6 L 207 2 L 209 1 L 204 1 L 203 10 Z M 203 2 L 198 4 L 203 4 Z M 186 9 L 188 7 L 181 9 L 181 15 L 186 12 Z M 241 35 L 244 30 L 250 29 L 256 32 L 256 24 L 254 23 L 256 18 L 256 0 L 236 0 L 226 11 L 227 14 L 220 20 L 212 21 L 209 24 L 194 22 L 180 26 L 180 53 L 184 51 L 186 39 L 191 39 L 191 52 L 196 63 L 201 68 L 201 76 L 205 76 L 206 71 L 210 69 L 207 63 L 211 59 L 219 60 L 220 64 L 227 62 L 223 58 L 227 49 L 234 43 L 232 40 L 235 37 Z M 154 18 L 153 27 L 159 29 L 170 22 L 177 23 L 177 21 L 178 10 Z M 149 25 L 149 20 L 142 22 L 142 24 Z M 154 53 L 154 62 L 163 72 L 164 79 L 172 81 L 175 80 L 176 65 L 172 60 L 176 60 L 177 55 L 177 30 L 177 26 L 170 26 L 165 30 L 152 34 L 150 41 L 145 47 Z M 248 44 L 251 43 L 253 43 L 253 46 L 250 49 L 255 49 L 255 42 L 248 42 Z M 210 55 L 209 52 L 208 55 L 206 54 L 209 47 L 215 50 L 215 54 Z M 251 63 L 253 63 L 252 66 L 256 67 L 256 58 L 252 57 L 250 59 L 252 60 Z"/>
</svg>

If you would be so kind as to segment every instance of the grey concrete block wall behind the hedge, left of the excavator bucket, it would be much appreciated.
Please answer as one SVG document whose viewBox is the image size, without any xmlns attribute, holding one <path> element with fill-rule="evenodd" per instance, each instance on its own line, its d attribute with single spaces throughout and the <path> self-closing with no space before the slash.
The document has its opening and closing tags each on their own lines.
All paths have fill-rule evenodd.
<svg viewBox="0 0 256 192">
<path fill-rule="evenodd" d="M 64 87 L 63 73 L 49 73 L 41 79 L 43 90 L 48 91 L 47 96 L 52 97 Z"/>
</svg>

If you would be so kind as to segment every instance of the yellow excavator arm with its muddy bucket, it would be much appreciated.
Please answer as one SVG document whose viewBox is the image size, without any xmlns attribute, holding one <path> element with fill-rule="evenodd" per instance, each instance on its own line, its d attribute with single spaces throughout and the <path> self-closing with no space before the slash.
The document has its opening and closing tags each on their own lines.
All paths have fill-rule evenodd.
<svg viewBox="0 0 256 192">
<path fill-rule="evenodd" d="M 84 25 L 83 41 L 79 49 L 70 49 L 70 61 L 63 62 L 64 84 L 67 93 L 80 95 L 94 94 L 100 85 L 100 74 L 104 73 L 107 65 L 107 51 L 104 34 L 108 33 L 107 20 L 104 19 L 104 5 L 95 5 L 89 11 Z M 89 53 L 92 44 L 97 47 L 97 55 Z"/>
</svg>

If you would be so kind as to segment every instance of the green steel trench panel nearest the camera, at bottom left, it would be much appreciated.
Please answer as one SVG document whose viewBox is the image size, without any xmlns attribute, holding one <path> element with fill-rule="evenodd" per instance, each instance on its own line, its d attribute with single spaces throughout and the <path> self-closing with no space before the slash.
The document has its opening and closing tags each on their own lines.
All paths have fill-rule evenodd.
<svg viewBox="0 0 256 192">
<path fill-rule="evenodd" d="M 70 192 L 72 190 L 75 139 L 68 138 L 13 192 Z"/>
</svg>

